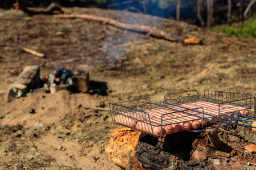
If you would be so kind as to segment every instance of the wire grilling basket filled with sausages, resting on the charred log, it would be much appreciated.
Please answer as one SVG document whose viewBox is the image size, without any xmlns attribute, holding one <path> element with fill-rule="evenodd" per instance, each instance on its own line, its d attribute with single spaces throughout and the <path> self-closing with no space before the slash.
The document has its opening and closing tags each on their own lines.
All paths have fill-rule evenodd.
<svg viewBox="0 0 256 170">
<path fill-rule="evenodd" d="M 192 102 L 197 101 L 207 101 L 213 104 L 218 105 L 218 114 L 216 116 L 210 114 L 212 117 L 215 117 L 216 120 L 212 121 L 212 124 L 203 125 L 204 120 L 209 121 L 209 114 L 205 112 L 206 110 L 204 107 L 194 107 L 194 108 L 186 108 L 181 106 L 181 104 L 189 104 Z M 223 105 L 233 105 L 233 107 L 243 107 L 249 111 L 248 116 L 240 114 L 241 109 L 237 111 L 233 111 L 232 113 L 226 112 L 223 114 L 225 109 L 223 109 Z M 181 124 L 184 122 L 184 116 L 187 114 L 187 118 L 189 116 L 195 116 L 197 118 L 193 119 L 192 121 L 202 121 L 200 124 L 200 128 L 198 130 L 191 130 L 193 132 L 202 132 L 205 131 L 206 128 L 210 128 L 213 130 L 217 130 L 218 128 L 226 128 L 228 125 L 234 126 L 246 126 L 249 128 L 256 128 L 251 126 L 253 122 L 249 120 L 256 120 L 255 118 L 255 96 L 250 94 L 242 94 L 236 92 L 226 92 L 226 91 L 212 91 L 212 90 L 205 90 L 204 96 L 200 96 L 197 90 L 191 91 L 183 91 L 183 92 L 176 92 L 172 94 L 164 95 L 164 101 L 160 101 L 158 103 L 151 103 L 149 97 L 145 97 L 142 99 L 134 99 L 128 101 L 122 101 L 119 103 L 113 103 L 109 105 L 110 113 L 112 116 L 112 120 L 114 124 L 126 126 L 131 129 L 142 131 L 143 133 L 150 134 L 153 136 L 162 137 L 164 134 L 163 127 L 167 125 L 174 125 L 174 124 Z M 230 107 L 230 108 L 233 108 Z M 172 109 L 176 112 L 170 113 L 163 113 L 162 109 Z M 193 114 L 190 112 L 193 111 Z M 152 116 L 152 112 L 155 114 L 159 114 L 160 117 Z M 196 114 L 196 113 L 197 114 Z M 182 113 L 182 114 L 181 114 Z M 230 113 L 230 115 L 228 115 Z M 171 118 L 171 115 L 181 114 L 179 117 Z M 121 116 L 119 120 L 123 121 L 123 124 L 116 122 L 115 118 L 117 116 Z M 160 120 L 159 120 L 160 119 Z M 231 119 L 231 120 L 229 120 Z M 190 120 L 189 120 L 190 121 Z M 138 129 L 135 124 L 140 122 L 141 129 Z M 142 124 L 143 123 L 143 124 Z M 133 126 L 131 126 L 133 125 Z M 143 125 L 143 126 L 142 126 Z M 155 127 L 160 128 L 160 134 L 155 135 L 154 129 Z M 179 130 L 181 131 L 181 130 Z M 176 131 L 176 132 L 179 132 Z M 172 132 L 174 133 L 174 132 Z"/>
</svg>

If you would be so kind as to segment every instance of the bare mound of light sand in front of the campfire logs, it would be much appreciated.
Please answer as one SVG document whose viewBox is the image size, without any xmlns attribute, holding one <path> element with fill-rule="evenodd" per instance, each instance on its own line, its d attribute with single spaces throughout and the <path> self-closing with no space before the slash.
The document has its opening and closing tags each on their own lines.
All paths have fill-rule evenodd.
<svg viewBox="0 0 256 170">
<path fill-rule="evenodd" d="M 59 91 L 56 94 L 34 94 L 16 99 L 2 107 L 3 125 L 22 125 L 24 127 L 52 124 L 67 114 L 76 112 L 77 105 L 99 107 L 100 101 L 89 94 L 69 94 Z M 30 113 L 34 109 L 35 113 Z"/>
</svg>

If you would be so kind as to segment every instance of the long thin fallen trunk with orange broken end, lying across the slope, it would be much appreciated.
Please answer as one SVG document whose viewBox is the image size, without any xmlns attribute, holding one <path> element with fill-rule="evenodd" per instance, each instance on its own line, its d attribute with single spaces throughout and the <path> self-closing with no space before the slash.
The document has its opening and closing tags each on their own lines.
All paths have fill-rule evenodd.
<svg viewBox="0 0 256 170">
<path fill-rule="evenodd" d="M 138 24 L 126 24 L 122 22 L 118 22 L 117 20 L 105 18 L 101 16 L 95 15 L 87 15 L 87 14 L 59 14 L 54 15 L 55 18 L 81 18 L 86 20 L 94 20 L 97 22 L 101 22 L 104 24 L 113 25 L 117 28 L 127 29 L 129 31 L 146 33 L 147 35 L 157 37 L 159 39 L 164 39 L 168 41 L 174 42 L 183 42 L 184 44 L 202 44 L 203 41 L 197 37 L 185 37 L 181 35 L 176 35 L 170 32 L 164 32 L 162 29 L 153 29 L 147 25 L 138 25 Z"/>
</svg>

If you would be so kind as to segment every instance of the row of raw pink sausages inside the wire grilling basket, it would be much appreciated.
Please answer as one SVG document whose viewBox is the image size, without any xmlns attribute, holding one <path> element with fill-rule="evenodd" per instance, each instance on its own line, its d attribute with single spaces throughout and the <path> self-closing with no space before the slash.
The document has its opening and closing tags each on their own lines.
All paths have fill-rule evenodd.
<svg viewBox="0 0 256 170">
<path fill-rule="evenodd" d="M 196 108 L 204 108 L 204 114 L 201 112 L 203 109 L 196 110 Z M 188 111 L 188 109 L 193 110 Z M 217 120 L 219 113 L 230 115 L 232 112 L 238 110 L 240 114 L 247 115 L 249 113 L 243 107 L 225 104 L 221 105 L 219 109 L 218 104 L 197 101 L 196 103 L 181 104 L 172 108 L 158 107 L 157 109 L 144 110 L 143 112 L 148 113 L 148 116 L 142 116 L 139 112 L 135 114 L 121 113 L 115 117 L 115 122 L 155 136 L 160 136 L 161 134 L 171 134 L 180 129 L 198 129 L 200 126 L 213 124 Z M 225 118 L 223 116 L 220 121 Z"/>
</svg>

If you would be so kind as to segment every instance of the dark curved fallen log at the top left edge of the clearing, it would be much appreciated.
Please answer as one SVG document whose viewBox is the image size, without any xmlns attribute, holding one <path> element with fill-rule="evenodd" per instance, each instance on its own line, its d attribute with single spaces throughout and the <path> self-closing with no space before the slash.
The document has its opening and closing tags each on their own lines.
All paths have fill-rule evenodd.
<svg viewBox="0 0 256 170">
<path fill-rule="evenodd" d="M 52 15 L 54 14 L 55 11 L 59 11 L 61 14 L 63 14 L 63 10 L 61 10 L 60 5 L 56 4 L 56 3 L 51 3 L 51 5 L 49 5 L 47 8 L 42 9 L 42 10 L 35 10 L 32 8 L 27 8 L 24 7 L 22 5 L 20 5 L 19 3 L 14 3 L 13 5 L 16 9 L 20 9 L 23 12 L 25 12 L 28 15 L 36 15 L 36 14 L 49 14 Z"/>
</svg>

